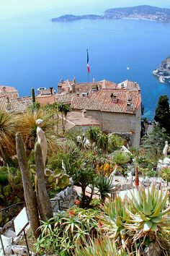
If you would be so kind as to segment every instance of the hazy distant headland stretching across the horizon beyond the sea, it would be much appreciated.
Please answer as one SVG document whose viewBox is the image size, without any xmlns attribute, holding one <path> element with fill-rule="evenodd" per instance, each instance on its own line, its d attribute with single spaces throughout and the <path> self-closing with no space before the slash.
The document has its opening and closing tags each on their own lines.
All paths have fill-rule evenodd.
<svg viewBox="0 0 170 256">
<path fill-rule="evenodd" d="M 53 18 L 52 22 L 71 22 L 75 20 L 154 20 L 156 22 L 170 23 L 170 9 L 140 5 L 138 7 L 123 7 L 107 9 L 102 15 L 86 14 L 72 15 L 66 14 Z"/>
</svg>

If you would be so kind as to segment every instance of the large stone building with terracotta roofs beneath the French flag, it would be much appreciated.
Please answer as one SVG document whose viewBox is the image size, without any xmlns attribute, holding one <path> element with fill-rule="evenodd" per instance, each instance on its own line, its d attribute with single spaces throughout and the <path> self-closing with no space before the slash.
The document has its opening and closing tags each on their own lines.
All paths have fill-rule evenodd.
<svg viewBox="0 0 170 256">
<path fill-rule="evenodd" d="M 73 111 L 86 111 L 99 121 L 104 132 L 122 137 L 128 145 L 140 145 L 141 95 L 138 83 L 126 80 L 116 84 L 107 80 L 77 83 L 67 80 L 58 85 L 60 95 L 68 95 Z"/>
</svg>

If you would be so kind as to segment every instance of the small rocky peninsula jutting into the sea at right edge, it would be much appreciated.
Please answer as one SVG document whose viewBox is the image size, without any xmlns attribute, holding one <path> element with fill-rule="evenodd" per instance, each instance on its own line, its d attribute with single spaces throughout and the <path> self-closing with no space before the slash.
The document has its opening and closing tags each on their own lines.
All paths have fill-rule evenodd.
<svg viewBox="0 0 170 256">
<path fill-rule="evenodd" d="M 158 77 L 160 82 L 170 83 L 170 56 L 161 61 L 161 65 L 158 69 L 153 70 L 153 75 Z"/>
</svg>

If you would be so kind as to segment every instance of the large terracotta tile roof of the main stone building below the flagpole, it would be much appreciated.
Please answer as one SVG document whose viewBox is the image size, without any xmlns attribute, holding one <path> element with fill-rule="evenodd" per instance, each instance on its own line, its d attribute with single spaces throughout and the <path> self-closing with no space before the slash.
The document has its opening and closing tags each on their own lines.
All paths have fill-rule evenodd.
<svg viewBox="0 0 170 256">
<path fill-rule="evenodd" d="M 117 103 L 113 102 L 111 95 L 116 95 Z M 131 100 L 130 106 L 127 104 L 128 99 Z M 137 90 L 99 90 L 91 92 L 88 97 L 73 98 L 71 108 L 135 114 L 140 103 L 141 96 Z"/>
</svg>

